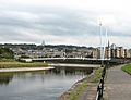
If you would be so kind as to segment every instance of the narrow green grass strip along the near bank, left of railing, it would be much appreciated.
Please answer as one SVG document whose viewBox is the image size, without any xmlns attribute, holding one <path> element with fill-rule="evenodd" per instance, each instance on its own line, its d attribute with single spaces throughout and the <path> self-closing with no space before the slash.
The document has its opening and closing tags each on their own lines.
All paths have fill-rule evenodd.
<svg viewBox="0 0 131 100">
<path fill-rule="evenodd" d="M 85 87 L 87 87 L 87 83 L 93 83 L 93 84 L 98 83 L 100 79 L 102 70 L 103 68 L 94 70 L 94 73 L 90 77 L 86 77 L 83 80 L 81 80 L 81 83 L 78 84 L 76 87 L 74 88 L 74 90 L 71 92 L 70 100 L 76 100 L 76 98 L 79 97 L 81 91 Z"/>
</svg>

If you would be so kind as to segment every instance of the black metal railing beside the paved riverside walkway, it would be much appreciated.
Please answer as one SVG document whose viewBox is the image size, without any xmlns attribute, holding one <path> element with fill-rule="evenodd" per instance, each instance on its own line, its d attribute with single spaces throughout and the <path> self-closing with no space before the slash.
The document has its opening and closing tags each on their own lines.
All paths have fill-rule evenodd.
<svg viewBox="0 0 131 100">
<path fill-rule="evenodd" d="M 104 91 L 104 83 L 105 83 L 105 74 L 106 74 L 106 66 L 103 66 L 102 71 L 102 77 L 97 86 L 97 93 L 95 100 L 100 100 L 103 98 L 103 91 Z"/>
</svg>

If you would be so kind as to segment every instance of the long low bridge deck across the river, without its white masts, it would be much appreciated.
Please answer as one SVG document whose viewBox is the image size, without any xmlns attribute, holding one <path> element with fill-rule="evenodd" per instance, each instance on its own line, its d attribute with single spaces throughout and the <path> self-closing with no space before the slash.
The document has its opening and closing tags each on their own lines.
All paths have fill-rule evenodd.
<svg viewBox="0 0 131 100">
<path fill-rule="evenodd" d="M 48 62 L 48 63 L 73 63 L 73 64 L 100 64 L 102 59 L 92 58 L 33 58 L 33 59 L 21 59 L 26 62 Z M 130 59 L 104 59 L 103 62 L 106 64 L 121 64 L 131 62 Z"/>
</svg>

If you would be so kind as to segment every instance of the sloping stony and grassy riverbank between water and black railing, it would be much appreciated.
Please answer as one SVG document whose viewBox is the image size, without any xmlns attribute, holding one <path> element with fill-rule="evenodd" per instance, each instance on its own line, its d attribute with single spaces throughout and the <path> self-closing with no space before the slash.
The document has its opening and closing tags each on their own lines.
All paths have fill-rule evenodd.
<svg viewBox="0 0 131 100">
<path fill-rule="evenodd" d="M 84 89 L 86 89 L 86 87 L 94 88 L 97 86 L 100 79 L 102 70 L 103 68 L 94 70 L 90 76 L 75 83 L 68 91 L 61 95 L 58 100 L 82 100 L 81 95 L 85 93 Z M 96 92 L 96 90 L 94 92 Z M 91 96 L 93 98 L 95 97 L 94 92 L 92 92 Z"/>
</svg>

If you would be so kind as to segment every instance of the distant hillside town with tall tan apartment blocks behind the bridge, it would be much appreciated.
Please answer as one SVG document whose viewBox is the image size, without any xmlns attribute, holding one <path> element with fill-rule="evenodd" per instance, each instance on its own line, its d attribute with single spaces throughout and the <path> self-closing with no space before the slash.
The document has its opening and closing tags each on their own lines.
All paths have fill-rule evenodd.
<svg viewBox="0 0 131 100">
<path fill-rule="evenodd" d="M 100 48 L 79 47 L 66 45 L 12 45 L 0 43 L 0 48 L 9 48 L 13 51 L 14 58 L 100 58 Z M 105 59 L 110 58 L 131 58 L 131 49 L 117 47 L 112 43 L 105 47 Z"/>
</svg>

